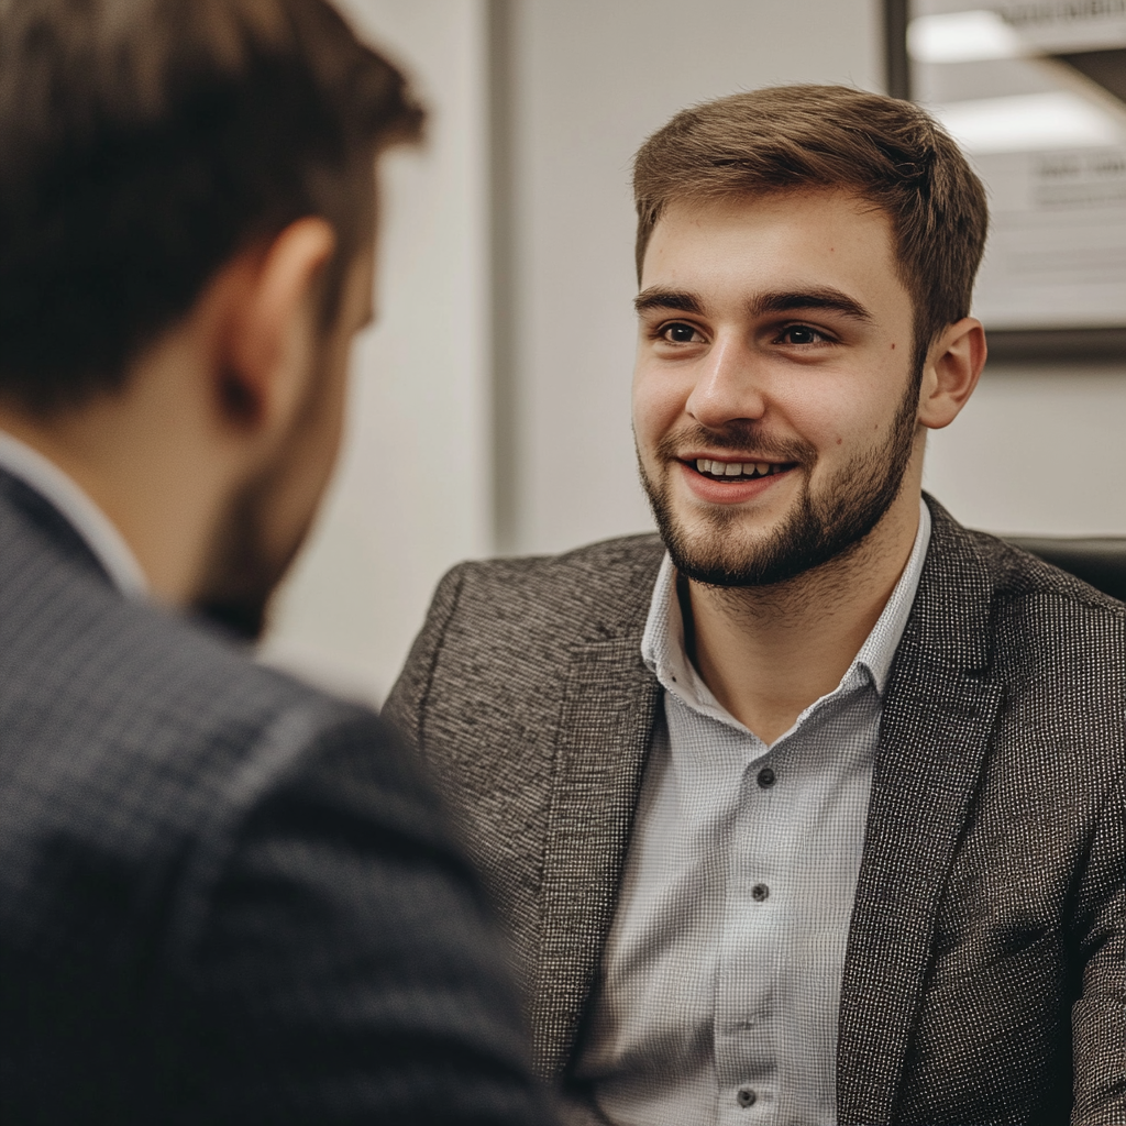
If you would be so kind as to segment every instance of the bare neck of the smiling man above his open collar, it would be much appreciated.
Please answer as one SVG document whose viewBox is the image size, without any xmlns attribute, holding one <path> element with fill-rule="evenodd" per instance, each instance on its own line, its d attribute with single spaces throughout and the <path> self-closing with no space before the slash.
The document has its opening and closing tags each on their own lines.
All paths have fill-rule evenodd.
<svg viewBox="0 0 1126 1126">
<path fill-rule="evenodd" d="M 919 491 L 906 485 L 852 551 L 789 582 L 689 583 L 690 656 L 715 698 L 768 745 L 837 688 L 887 605 L 919 528 Z"/>
</svg>

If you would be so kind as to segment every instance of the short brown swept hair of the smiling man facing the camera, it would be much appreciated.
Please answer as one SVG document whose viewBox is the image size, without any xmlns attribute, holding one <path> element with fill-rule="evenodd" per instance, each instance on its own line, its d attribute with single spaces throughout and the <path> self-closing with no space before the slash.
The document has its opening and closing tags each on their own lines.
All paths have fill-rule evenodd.
<svg viewBox="0 0 1126 1126">
<path fill-rule="evenodd" d="M 673 200 L 846 188 L 892 222 L 914 304 L 915 358 L 966 316 L 985 245 L 985 190 L 958 146 L 910 101 L 843 86 L 779 86 L 677 114 L 634 159 L 637 278 Z"/>
</svg>

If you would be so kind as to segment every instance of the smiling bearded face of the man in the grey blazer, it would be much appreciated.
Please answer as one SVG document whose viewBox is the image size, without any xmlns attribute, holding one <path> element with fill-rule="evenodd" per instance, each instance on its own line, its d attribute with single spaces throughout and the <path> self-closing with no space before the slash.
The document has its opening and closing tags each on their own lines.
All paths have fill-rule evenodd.
<svg viewBox="0 0 1126 1126">
<path fill-rule="evenodd" d="M 833 191 L 673 205 L 637 309 L 637 456 L 682 573 L 784 582 L 879 522 L 921 449 L 883 212 Z"/>
</svg>

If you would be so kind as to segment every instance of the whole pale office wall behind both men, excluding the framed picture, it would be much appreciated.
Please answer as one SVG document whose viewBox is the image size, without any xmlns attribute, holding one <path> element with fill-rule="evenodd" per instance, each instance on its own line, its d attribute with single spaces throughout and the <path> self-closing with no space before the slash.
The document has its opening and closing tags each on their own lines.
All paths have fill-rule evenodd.
<svg viewBox="0 0 1126 1126">
<path fill-rule="evenodd" d="M 457 561 L 652 528 L 629 430 L 631 157 L 678 109 L 740 89 L 886 89 L 884 5 L 342 7 L 410 69 L 431 123 L 386 162 L 378 323 L 263 656 L 378 703 Z M 1124 535 L 1124 430 L 1126 357 L 991 361 L 930 437 L 926 486 L 972 527 Z"/>
</svg>

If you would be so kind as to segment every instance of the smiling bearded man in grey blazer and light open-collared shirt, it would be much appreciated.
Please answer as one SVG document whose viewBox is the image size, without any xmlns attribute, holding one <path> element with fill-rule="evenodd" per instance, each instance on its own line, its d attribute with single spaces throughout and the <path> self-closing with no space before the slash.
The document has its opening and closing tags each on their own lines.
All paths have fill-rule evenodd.
<svg viewBox="0 0 1126 1126">
<path fill-rule="evenodd" d="M 575 1123 L 1126 1119 L 1126 610 L 922 494 L 981 185 L 837 87 L 635 163 L 660 536 L 456 569 L 388 711 Z"/>
</svg>

